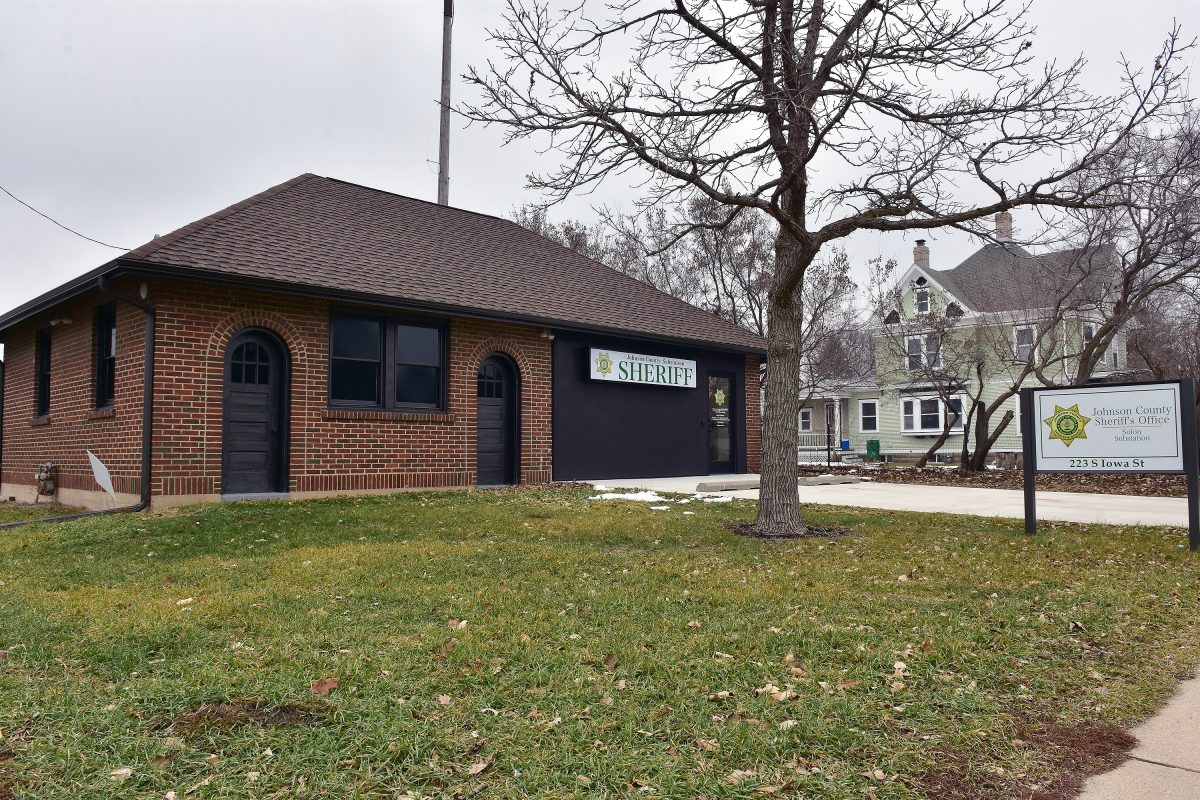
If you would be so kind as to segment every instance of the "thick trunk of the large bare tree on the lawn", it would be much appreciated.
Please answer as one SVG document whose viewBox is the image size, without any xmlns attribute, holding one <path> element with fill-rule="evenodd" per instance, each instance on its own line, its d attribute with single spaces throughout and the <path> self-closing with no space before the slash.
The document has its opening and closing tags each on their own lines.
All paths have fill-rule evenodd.
<svg viewBox="0 0 1200 800">
<path fill-rule="evenodd" d="M 780 233 L 775 242 L 775 275 L 779 261 L 803 259 L 796 240 Z M 811 260 L 811 259 L 810 259 Z M 767 383 L 762 415 L 762 475 L 758 483 L 758 533 L 764 535 L 804 531 L 800 517 L 799 444 L 800 416 L 800 293 L 778 297 L 767 307 Z"/>
</svg>

